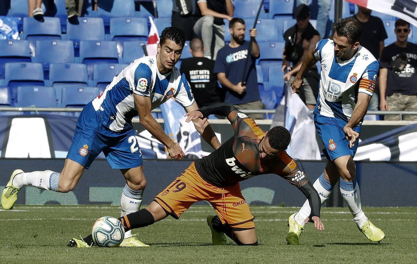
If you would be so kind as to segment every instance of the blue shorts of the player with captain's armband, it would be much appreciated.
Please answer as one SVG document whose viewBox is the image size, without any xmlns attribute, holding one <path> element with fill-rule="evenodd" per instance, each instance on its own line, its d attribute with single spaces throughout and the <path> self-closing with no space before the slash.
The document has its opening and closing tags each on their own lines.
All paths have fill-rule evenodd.
<svg viewBox="0 0 417 264">
<path fill-rule="evenodd" d="M 342 156 L 355 156 L 359 138 L 356 139 L 355 146 L 349 148 L 349 141 L 343 132 L 343 128 L 347 124 L 346 121 L 314 113 L 314 124 L 324 145 L 323 153 L 330 161 Z M 361 133 L 361 128 L 362 126 L 357 126 L 353 130 Z"/>
</svg>

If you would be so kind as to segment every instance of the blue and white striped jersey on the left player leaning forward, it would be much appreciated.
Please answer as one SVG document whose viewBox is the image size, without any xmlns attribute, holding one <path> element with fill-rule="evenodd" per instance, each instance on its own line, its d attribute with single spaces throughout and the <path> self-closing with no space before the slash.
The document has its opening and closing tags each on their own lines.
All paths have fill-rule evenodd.
<svg viewBox="0 0 417 264">
<path fill-rule="evenodd" d="M 133 94 L 151 97 L 154 109 L 170 97 L 176 98 L 182 106 L 194 103 L 190 85 L 184 74 L 173 67 L 161 74 L 156 66 L 156 56 L 134 60 L 124 68 L 106 90 L 93 100 L 93 107 L 104 126 L 112 131 L 131 129 L 131 120 L 138 115 Z"/>
</svg>

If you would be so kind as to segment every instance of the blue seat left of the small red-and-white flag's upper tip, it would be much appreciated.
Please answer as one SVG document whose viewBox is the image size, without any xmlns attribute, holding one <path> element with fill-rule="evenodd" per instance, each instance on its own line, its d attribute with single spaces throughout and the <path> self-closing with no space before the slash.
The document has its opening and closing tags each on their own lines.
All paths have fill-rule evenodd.
<svg viewBox="0 0 417 264">
<path fill-rule="evenodd" d="M 123 55 L 125 41 L 148 41 L 148 34 L 148 20 L 146 18 L 110 19 L 110 40 L 116 41 L 119 57 Z"/>
</svg>

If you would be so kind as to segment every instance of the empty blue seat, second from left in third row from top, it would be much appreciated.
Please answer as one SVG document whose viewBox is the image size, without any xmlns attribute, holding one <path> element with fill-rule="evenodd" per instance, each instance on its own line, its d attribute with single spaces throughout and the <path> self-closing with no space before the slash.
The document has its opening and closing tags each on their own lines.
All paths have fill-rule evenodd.
<svg viewBox="0 0 417 264">
<path fill-rule="evenodd" d="M 43 64 L 45 79 L 49 79 L 50 63 L 74 63 L 74 44 L 71 40 L 38 40 L 33 62 Z"/>
</svg>

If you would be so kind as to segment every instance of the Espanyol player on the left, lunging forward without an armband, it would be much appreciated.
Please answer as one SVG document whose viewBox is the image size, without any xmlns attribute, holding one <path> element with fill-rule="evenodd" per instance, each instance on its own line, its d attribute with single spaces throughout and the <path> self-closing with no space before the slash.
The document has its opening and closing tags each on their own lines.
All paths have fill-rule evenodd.
<svg viewBox="0 0 417 264">
<path fill-rule="evenodd" d="M 13 171 L 2 194 L 2 206 L 12 208 L 18 191 L 25 185 L 63 193 L 73 190 L 84 169 L 103 151 L 110 166 L 120 169 L 126 179 L 121 195 L 121 215 L 138 211 L 146 179 L 141 149 L 131 120 L 133 116 L 139 116 L 141 124 L 166 146 L 171 158 L 184 156 L 179 144 L 173 142 L 153 118 L 151 109 L 170 97 L 176 98 L 187 112 L 198 109 L 185 75 L 174 67 L 181 57 L 185 41 L 182 30 L 165 28 L 157 55 L 134 60 L 113 78 L 102 94 L 84 107 L 61 173 Z M 202 120 L 194 122 L 198 132 L 214 149 L 219 148 L 220 142 L 211 126 L 201 123 Z M 75 246 L 83 244 L 79 239 L 73 242 Z M 121 246 L 147 245 L 127 233 Z"/>
</svg>

